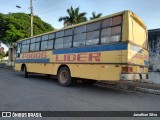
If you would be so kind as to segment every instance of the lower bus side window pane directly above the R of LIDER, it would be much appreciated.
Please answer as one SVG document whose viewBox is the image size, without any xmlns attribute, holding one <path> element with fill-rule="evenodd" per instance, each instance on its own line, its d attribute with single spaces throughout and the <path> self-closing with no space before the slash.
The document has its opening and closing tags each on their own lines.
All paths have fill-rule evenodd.
<svg viewBox="0 0 160 120">
<path fill-rule="evenodd" d="M 99 30 L 87 33 L 86 45 L 96 45 L 98 44 L 98 42 L 99 42 Z"/>
</svg>

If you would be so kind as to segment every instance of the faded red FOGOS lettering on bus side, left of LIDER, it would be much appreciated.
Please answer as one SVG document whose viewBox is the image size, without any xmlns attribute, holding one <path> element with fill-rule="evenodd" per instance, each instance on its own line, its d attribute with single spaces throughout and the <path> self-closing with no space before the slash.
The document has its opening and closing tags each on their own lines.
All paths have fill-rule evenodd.
<svg viewBox="0 0 160 120">
<path fill-rule="evenodd" d="M 34 58 L 46 58 L 46 52 L 37 52 L 37 53 L 26 53 L 22 55 L 22 58 L 34 59 Z"/>
</svg>

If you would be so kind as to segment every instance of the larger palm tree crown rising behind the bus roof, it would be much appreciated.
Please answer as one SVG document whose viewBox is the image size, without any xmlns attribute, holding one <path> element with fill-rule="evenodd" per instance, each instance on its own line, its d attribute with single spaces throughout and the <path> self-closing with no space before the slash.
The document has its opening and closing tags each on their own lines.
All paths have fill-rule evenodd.
<svg viewBox="0 0 160 120">
<path fill-rule="evenodd" d="M 73 9 L 71 8 L 67 9 L 68 16 L 60 17 L 59 22 L 64 21 L 64 25 L 75 25 L 84 21 L 87 21 L 86 13 L 79 12 L 79 7 Z"/>
</svg>

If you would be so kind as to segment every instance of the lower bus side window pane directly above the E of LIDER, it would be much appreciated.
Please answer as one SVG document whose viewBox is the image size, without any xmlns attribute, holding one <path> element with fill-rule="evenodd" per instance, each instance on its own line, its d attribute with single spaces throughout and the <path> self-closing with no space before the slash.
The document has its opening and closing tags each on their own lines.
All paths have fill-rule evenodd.
<svg viewBox="0 0 160 120">
<path fill-rule="evenodd" d="M 85 46 L 86 33 L 74 35 L 73 47 Z"/>
</svg>

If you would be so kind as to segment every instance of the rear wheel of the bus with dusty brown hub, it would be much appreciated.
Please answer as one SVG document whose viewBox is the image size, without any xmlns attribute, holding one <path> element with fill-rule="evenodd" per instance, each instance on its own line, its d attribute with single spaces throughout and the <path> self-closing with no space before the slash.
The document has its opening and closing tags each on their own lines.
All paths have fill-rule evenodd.
<svg viewBox="0 0 160 120">
<path fill-rule="evenodd" d="M 68 87 L 74 84 L 68 67 L 62 67 L 58 71 L 58 83 L 62 86 Z"/>
</svg>

